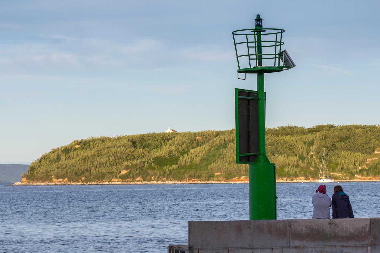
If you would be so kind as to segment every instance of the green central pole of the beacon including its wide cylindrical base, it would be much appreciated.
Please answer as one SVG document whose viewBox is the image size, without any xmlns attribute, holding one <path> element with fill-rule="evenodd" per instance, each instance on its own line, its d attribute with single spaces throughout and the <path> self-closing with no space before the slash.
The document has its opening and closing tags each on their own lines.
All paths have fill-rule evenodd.
<svg viewBox="0 0 380 253">
<path fill-rule="evenodd" d="M 260 15 L 257 15 L 260 18 Z M 256 26 L 255 29 L 262 29 Z M 257 32 L 257 66 L 262 66 L 261 32 Z M 275 164 L 270 163 L 265 152 L 265 93 L 264 72 L 257 73 L 258 98 L 258 150 L 255 163 L 249 164 L 249 219 L 275 220 L 276 207 L 276 175 Z"/>
</svg>

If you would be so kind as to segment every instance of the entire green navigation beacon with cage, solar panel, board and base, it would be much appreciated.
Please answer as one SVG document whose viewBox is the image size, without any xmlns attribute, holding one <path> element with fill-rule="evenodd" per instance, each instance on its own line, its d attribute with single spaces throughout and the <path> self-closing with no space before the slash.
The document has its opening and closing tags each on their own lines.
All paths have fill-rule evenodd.
<svg viewBox="0 0 380 253">
<path fill-rule="evenodd" d="M 295 66 L 287 51 L 281 51 L 283 32 L 279 28 L 263 28 L 259 14 L 255 28 L 232 32 L 237 78 L 245 80 L 246 74 L 257 77 L 257 91 L 235 89 L 236 163 L 248 164 L 250 220 L 277 218 L 276 165 L 269 162 L 265 152 L 264 73 Z"/>
</svg>

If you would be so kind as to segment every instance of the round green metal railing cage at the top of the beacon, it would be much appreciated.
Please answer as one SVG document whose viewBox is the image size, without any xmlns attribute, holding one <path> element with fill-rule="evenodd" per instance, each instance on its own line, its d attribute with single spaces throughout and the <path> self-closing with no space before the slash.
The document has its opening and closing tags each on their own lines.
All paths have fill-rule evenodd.
<svg viewBox="0 0 380 253">
<path fill-rule="evenodd" d="M 273 73 L 289 68 L 280 61 L 282 33 L 280 28 L 253 28 L 232 32 L 237 73 Z M 261 52 L 260 52 L 261 51 Z M 239 78 L 241 79 L 241 78 Z"/>
</svg>

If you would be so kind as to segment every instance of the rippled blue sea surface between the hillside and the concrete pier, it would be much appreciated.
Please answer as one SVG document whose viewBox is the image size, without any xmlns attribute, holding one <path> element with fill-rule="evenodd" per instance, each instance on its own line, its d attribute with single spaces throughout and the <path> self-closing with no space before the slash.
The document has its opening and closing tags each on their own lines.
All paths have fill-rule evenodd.
<svg viewBox="0 0 380 253">
<path fill-rule="evenodd" d="M 379 182 L 339 184 L 355 217 L 380 216 Z M 278 183 L 277 217 L 311 218 L 317 187 Z M 248 218 L 246 183 L 0 186 L 0 252 L 166 252 L 188 220 Z"/>
</svg>

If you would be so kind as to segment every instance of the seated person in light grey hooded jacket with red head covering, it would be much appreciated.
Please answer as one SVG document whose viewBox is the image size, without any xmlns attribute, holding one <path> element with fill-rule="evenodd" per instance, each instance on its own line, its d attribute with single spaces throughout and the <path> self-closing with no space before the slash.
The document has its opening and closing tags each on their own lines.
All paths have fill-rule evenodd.
<svg viewBox="0 0 380 253">
<path fill-rule="evenodd" d="M 320 185 L 318 187 L 311 202 L 314 206 L 312 219 L 330 218 L 331 198 L 326 194 L 326 185 Z"/>
</svg>

